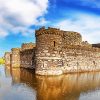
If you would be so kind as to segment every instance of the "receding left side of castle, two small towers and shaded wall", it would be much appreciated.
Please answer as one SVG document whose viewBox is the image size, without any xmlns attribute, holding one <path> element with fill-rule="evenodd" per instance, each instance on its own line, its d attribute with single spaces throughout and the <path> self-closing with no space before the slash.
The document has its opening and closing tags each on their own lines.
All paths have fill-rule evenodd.
<svg viewBox="0 0 100 100">
<path fill-rule="evenodd" d="M 33 68 L 35 57 L 35 44 L 23 43 L 21 48 L 12 48 L 5 53 L 5 64 L 12 67 Z"/>
</svg>

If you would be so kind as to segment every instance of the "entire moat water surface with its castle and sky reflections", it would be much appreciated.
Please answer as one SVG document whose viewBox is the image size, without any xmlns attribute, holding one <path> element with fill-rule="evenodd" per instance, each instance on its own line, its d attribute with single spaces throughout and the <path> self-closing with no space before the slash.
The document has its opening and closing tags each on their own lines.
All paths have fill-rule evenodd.
<svg viewBox="0 0 100 100">
<path fill-rule="evenodd" d="M 0 66 L 0 100 L 100 100 L 100 72 L 37 76 Z"/>
</svg>

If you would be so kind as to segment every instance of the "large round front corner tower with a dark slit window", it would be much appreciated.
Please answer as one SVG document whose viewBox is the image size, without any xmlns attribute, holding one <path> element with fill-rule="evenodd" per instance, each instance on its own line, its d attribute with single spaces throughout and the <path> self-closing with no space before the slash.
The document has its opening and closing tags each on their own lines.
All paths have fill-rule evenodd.
<svg viewBox="0 0 100 100">
<path fill-rule="evenodd" d="M 62 74 L 63 33 L 56 28 L 45 27 L 36 30 L 36 74 Z"/>
</svg>

